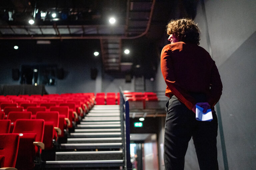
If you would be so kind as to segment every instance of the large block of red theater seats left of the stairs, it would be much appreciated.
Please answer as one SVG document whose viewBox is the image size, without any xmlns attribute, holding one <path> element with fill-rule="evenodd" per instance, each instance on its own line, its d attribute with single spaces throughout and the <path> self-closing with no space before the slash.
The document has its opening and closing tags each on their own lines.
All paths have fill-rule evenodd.
<svg viewBox="0 0 256 170">
<path fill-rule="evenodd" d="M 22 170 L 33 169 L 35 160 L 40 163 L 40 159 L 34 159 L 40 157 L 40 150 L 52 149 L 53 141 L 72 128 L 71 122 L 93 107 L 94 94 L 9 95 L 0 96 L 0 102 L 0 148 L 4 148 L 0 150 L 0 165 Z M 8 144 L 14 139 L 18 142 Z M 15 153 L 17 162 L 13 159 Z"/>
</svg>

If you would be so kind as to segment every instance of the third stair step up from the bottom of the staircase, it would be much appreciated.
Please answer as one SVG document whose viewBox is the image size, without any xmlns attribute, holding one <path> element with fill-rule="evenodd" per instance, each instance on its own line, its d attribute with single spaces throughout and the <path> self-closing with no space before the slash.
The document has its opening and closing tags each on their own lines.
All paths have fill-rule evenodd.
<svg viewBox="0 0 256 170">
<path fill-rule="evenodd" d="M 120 148 L 122 143 L 65 143 L 61 149 Z"/>
</svg>

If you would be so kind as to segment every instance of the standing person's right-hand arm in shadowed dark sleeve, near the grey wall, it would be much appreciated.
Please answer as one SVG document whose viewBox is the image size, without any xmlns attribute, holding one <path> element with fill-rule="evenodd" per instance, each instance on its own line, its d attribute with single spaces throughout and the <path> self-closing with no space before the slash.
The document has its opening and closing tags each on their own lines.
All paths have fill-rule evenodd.
<svg viewBox="0 0 256 170">
<path fill-rule="evenodd" d="M 219 101 L 221 94 L 222 82 L 220 79 L 218 68 L 213 61 L 210 80 L 210 95 L 207 97 L 207 102 L 210 104 L 211 108 L 213 108 L 215 104 Z"/>
</svg>

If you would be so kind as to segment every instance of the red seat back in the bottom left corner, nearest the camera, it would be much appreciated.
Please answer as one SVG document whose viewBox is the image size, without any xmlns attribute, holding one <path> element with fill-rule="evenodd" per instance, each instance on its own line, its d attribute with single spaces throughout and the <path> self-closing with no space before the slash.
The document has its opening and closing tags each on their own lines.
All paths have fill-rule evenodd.
<svg viewBox="0 0 256 170">
<path fill-rule="evenodd" d="M 15 167 L 19 147 L 19 134 L 0 134 L 0 167 Z"/>
</svg>

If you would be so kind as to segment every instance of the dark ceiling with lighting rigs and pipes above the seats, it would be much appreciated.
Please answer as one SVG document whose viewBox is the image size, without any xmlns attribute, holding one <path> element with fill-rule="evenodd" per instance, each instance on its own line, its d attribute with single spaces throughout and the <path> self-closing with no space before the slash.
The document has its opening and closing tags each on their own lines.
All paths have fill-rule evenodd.
<svg viewBox="0 0 256 170">
<path fill-rule="evenodd" d="M 144 63 L 155 71 L 165 25 L 173 18 L 194 18 L 197 0 L 0 0 L 0 4 L 1 41 L 98 40 L 104 70 L 120 72 L 127 71 L 124 62 L 133 63 L 130 69 Z M 116 18 L 114 25 L 109 24 L 110 17 Z M 30 25 L 29 19 L 35 23 Z M 131 49 L 129 59 L 124 57 L 126 47 Z"/>
</svg>

